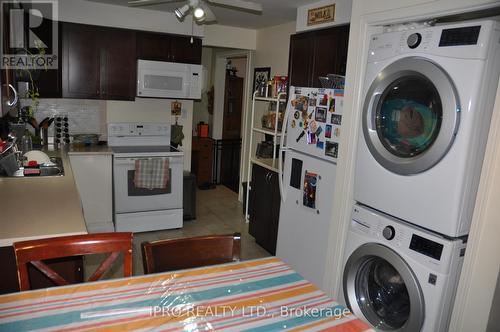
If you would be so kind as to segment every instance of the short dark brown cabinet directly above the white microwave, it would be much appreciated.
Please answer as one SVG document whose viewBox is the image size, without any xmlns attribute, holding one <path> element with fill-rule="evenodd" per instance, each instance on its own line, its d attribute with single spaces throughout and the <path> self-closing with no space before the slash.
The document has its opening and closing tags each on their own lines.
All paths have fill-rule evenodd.
<svg viewBox="0 0 500 332">
<path fill-rule="evenodd" d="M 201 39 L 155 32 L 137 33 L 137 58 L 201 64 Z"/>
</svg>

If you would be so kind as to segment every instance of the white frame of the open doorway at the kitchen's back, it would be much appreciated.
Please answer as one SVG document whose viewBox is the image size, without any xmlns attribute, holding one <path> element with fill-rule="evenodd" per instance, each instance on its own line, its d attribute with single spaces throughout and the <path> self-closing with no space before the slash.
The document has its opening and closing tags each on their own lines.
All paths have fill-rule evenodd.
<svg viewBox="0 0 500 332">
<path fill-rule="evenodd" d="M 243 200 L 243 190 L 241 183 L 246 180 L 245 165 L 247 164 L 247 145 L 249 137 L 247 135 L 249 129 L 249 110 L 251 107 L 249 96 L 252 95 L 252 75 L 253 62 L 255 51 L 251 50 L 228 50 L 215 52 L 215 69 L 214 69 L 214 114 L 213 114 L 213 129 L 212 138 L 222 139 L 222 126 L 224 117 L 224 91 L 226 85 L 226 63 L 228 58 L 246 57 L 245 79 L 243 82 L 243 105 L 241 110 L 241 154 L 240 154 L 240 179 L 238 183 L 238 200 Z M 217 161 L 216 161 L 217 162 Z"/>
</svg>

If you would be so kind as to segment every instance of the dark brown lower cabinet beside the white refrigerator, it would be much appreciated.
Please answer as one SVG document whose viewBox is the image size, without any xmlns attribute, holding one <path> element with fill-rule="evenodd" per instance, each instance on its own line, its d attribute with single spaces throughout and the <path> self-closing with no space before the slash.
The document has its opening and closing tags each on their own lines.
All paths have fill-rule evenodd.
<svg viewBox="0 0 500 332">
<path fill-rule="evenodd" d="M 271 254 L 276 254 L 280 192 L 278 173 L 253 165 L 248 213 L 248 232 L 255 241 Z"/>
</svg>

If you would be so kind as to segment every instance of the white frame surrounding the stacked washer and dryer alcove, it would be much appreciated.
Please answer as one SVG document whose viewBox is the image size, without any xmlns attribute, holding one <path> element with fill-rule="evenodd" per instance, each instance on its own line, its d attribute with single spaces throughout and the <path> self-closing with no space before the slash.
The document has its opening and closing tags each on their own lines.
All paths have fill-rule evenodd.
<svg viewBox="0 0 500 332">
<path fill-rule="evenodd" d="M 387 24 L 424 21 L 429 18 L 461 14 L 498 7 L 492 0 L 354 0 L 351 14 L 346 72 L 343 135 L 337 164 L 332 227 L 323 288 L 337 298 L 342 285 L 343 252 L 354 204 L 354 169 L 359 137 L 362 88 L 367 62 L 367 45 L 372 33 Z M 409 16 L 412 13 L 412 16 Z M 490 133 L 469 234 L 467 253 L 456 293 L 450 331 L 484 331 L 496 287 L 500 265 L 500 83 L 497 89 Z M 496 186 L 495 186 L 496 185 Z M 343 299 L 339 299 L 343 302 Z"/>
</svg>

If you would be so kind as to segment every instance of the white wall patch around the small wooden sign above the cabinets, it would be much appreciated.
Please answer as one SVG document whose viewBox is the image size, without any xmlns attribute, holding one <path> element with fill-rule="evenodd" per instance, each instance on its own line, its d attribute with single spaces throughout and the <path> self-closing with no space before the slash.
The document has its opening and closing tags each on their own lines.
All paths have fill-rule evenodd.
<svg viewBox="0 0 500 332">
<path fill-rule="evenodd" d="M 335 4 L 335 19 L 333 22 L 315 24 L 310 26 L 307 25 L 307 12 L 309 11 L 309 9 L 319 8 L 331 4 Z M 296 30 L 297 32 L 299 32 L 307 30 L 324 29 L 334 25 L 349 23 L 351 21 L 351 7 L 352 7 L 352 0 L 323 0 L 312 4 L 300 6 L 299 8 L 297 8 Z"/>
</svg>

